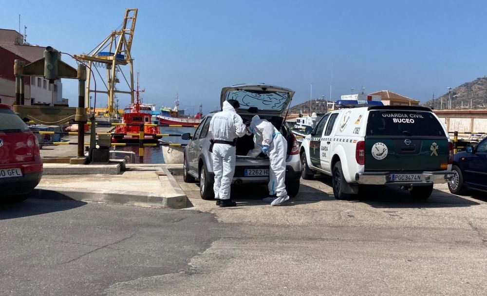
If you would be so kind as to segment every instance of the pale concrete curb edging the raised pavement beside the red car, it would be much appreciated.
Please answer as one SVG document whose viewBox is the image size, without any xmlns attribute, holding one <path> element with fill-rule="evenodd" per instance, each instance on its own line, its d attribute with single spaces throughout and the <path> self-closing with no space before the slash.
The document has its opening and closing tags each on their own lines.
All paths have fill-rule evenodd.
<svg viewBox="0 0 487 296">
<path fill-rule="evenodd" d="M 181 190 L 181 188 L 179 188 L 179 190 Z M 185 208 L 187 202 L 186 194 L 184 194 L 184 192 L 182 194 L 163 196 L 162 194 L 150 192 L 62 188 L 55 186 L 37 186 L 29 197 L 49 200 L 72 199 L 85 202 L 122 203 L 142 206 L 158 206 L 173 209 Z"/>
</svg>

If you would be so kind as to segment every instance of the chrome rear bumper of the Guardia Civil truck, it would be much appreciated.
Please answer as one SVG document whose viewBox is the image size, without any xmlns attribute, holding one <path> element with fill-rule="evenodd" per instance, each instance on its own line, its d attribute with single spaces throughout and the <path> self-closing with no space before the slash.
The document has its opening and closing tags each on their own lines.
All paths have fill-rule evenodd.
<svg viewBox="0 0 487 296">
<path fill-rule="evenodd" d="M 418 174 L 421 181 L 393 181 L 392 175 L 398 174 Z M 438 184 L 448 183 L 453 178 L 453 172 L 448 170 L 434 172 L 363 172 L 355 175 L 355 181 L 363 185 L 385 185 L 385 184 Z"/>
</svg>

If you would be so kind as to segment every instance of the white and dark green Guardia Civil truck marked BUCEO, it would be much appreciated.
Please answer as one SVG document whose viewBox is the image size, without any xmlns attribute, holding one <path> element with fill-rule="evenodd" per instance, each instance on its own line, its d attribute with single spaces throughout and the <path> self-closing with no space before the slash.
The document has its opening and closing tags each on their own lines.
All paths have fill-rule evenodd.
<svg viewBox="0 0 487 296">
<path fill-rule="evenodd" d="M 395 185 L 427 199 L 433 184 L 453 178 L 453 145 L 430 109 L 383 106 L 378 101 L 338 101 L 300 148 L 301 177 L 332 177 L 337 199 L 362 186 Z"/>
</svg>

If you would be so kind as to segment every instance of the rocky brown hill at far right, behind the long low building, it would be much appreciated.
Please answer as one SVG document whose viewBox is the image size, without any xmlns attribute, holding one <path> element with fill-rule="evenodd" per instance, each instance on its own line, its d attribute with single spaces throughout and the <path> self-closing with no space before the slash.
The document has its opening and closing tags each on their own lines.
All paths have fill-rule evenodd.
<svg viewBox="0 0 487 296">
<path fill-rule="evenodd" d="M 477 78 L 473 81 L 464 83 L 451 90 L 451 109 L 486 109 L 487 108 L 487 76 Z M 443 109 L 448 109 L 448 92 L 444 95 L 421 104 L 422 106 L 434 109 L 441 109 L 443 99 Z M 471 105 L 470 105 L 471 104 Z M 467 107 L 468 106 L 468 107 Z"/>
</svg>

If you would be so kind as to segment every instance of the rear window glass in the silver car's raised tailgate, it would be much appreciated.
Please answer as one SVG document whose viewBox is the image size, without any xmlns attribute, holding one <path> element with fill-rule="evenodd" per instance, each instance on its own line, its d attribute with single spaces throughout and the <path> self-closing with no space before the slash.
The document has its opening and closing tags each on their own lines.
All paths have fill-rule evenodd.
<svg viewBox="0 0 487 296">
<path fill-rule="evenodd" d="M 287 92 L 266 92 L 257 90 L 231 90 L 226 92 L 225 100 L 237 100 L 240 109 L 257 107 L 259 110 L 281 111 L 289 94 Z"/>
</svg>

